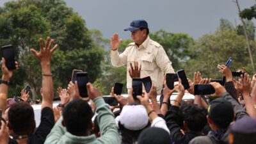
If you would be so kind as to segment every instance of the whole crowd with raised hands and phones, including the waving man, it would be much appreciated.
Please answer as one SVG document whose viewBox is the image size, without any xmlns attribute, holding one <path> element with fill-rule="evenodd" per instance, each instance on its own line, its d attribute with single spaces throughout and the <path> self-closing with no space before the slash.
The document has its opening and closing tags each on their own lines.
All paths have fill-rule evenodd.
<svg viewBox="0 0 256 144">
<path fill-rule="evenodd" d="M 202 77 L 200 72 L 195 72 L 193 79 L 188 79 L 187 90 L 180 79 L 179 83 L 175 83 L 173 90 L 170 90 L 166 85 L 164 74 L 174 71 L 163 47 L 150 40 L 145 20 L 132 21 L 130 26 L 131 28 L 125 30 L 132 32 L 131 36 L 135 43 L 130 44 L 121 56 L 116 51 L 120 45 L 118 35 L 115 34 L 111 38 L 112 62 L 116 66 L 129 65 L 128 97 L 116 95 L 113 89 L 110 92 L 111 97 L 115 97 L 118 101 L 118 106 L 113 108 L 106 104 L 100 91 L 91 83 L 84 85 L 88 98 L 82 98 L 79 95 L 77 81 L 75 83 L 70 81 L 67 88 L 58 88 L 61 102 L 53 108 L 54 77 L 51 74 L 51 58 L 58 45 L 54 45 L 54 40 L 49 37 L 45 40 L 45 44 L 40 38 L 40 51 L 31 49 L 35 58 L 40 61 L 42 69 L 40 124 L 36 127 L 35 114 L 28 101 L 28 92 L 22 90 L 20 97 L 22 100 L 19 102 L 9 102 L 8 83 L 1 83 L 0 143 L 255 143 L 256 75 L 251 78 L 245 72 L 239 79 L 234 79 L 230 68 L 220 64 L 218 69 L 226 77 L 225 84 L 211 82 L 210 78 Z M 144 39 L 136 41 L 137 35 L 141 35 Z M 145 49 L 149 49 L 150 53 L 144 52 Z M 154 49 L 157 51 L 153 51 Z M 131 58 L 132 54 L 139 56 L 134 55 Z M 148 55 L 143 57 L 143 54 Z M 139 61 L 140 56 L 144 60 L 143 63 Z M 150 58 L 150 56 L 154 57 Z M 136 62 L 132 63 L 132 61 Z M 155 63 L 149 63 L 150 61 Z M 13 70 L 8 70 L 4 58 L 1 62 L 1 81 L 10 81 Z M 152 70 L 152 73 L 149 70 Z M 160 76 L 161 74 L 163 76 Z M 143 91 L 141 95 L 134 97 L 131 79 L 146 75 L 152 77 L 150 92 Z M 161 83 L 160 92 L 159 83 Z M 195 84 L 211 84 L 215 91 L 211 94 L 211 99 L 210 96 L 195 95 Z M 170 101 L 173 92 L 178 94 Z M 159 102 L 158 93 L 161 93 Z M 195 99 L 182 100 L 185 93 L 195 95 Z M 115 108 L 120 110 L 115 111 Z"/>
</svg>

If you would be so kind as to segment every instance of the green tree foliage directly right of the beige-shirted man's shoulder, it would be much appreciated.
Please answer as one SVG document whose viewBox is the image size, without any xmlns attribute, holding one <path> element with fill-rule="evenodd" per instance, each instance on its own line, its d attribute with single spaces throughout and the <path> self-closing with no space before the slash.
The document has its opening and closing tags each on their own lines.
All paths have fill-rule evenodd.
<svg viewBox="0 0 256 144">
<path fill-rule="evenodd" d="M 164 47 L 166 54 L 175 70 L 184 67 L 184 63 L 193 57 L 193 51 L 189 49 L 194 40 L 191 36 L 184 33 L 168 33 L 163 30 L 150 34 L 150 38 Z"/>
</svg>

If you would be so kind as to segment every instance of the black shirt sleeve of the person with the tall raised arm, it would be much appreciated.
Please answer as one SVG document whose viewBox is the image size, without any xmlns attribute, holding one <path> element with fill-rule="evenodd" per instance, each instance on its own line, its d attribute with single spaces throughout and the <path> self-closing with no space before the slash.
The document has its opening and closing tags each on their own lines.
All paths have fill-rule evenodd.
<svg viewBox="0 0 256 144">
<path fill-rule="evenodd" d="M 46 107 L 41 111 L 41 122 L 36 131 L 28 138 L 28 144 L 44 144 L 46 136 L 51 132 L 54 126 L 54 115 L 51 108 Z M 12 139 L 9 144 L 18 144 L 16 140 Z"/>
</svg>

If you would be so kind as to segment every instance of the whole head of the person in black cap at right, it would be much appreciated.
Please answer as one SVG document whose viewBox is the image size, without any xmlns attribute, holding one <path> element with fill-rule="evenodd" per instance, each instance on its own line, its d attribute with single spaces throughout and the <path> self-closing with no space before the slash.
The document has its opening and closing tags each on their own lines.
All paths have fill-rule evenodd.
<svg viewBox="0 0 256 144">
<path fill-rule="evenodd" d="M 232 104 L 222 97 L 212 100 L 208 107 L 207 120 L 211 129 L 227 129 L 234 120 Z"/>
</svg>

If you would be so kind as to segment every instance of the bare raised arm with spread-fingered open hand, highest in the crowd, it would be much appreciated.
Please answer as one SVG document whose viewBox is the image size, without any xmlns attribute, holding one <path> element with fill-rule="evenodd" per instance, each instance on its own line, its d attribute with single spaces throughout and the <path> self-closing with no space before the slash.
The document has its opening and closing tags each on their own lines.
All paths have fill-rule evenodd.
<svg viewBox="0 0 256 144">
<path fill-rule="evenodd" d="M 40 51 L 37 52 L 35 49 L 31 49 L 30 51 L 33 52 L 35 57 L 40 61 L 42 68 L 42 89 L 44 95 L 44 97 L 42 97 L 42 109 L 45 107 L 52 108 L 53 82 L 51 73 L 51 58 L 58 45 L 56 44 L 52 47 L 54 40 L 50 37 L 47 37 L 45 45 L 43 44 L 42 38 L 40 38 L 39 42 Z"/>
</svg>

